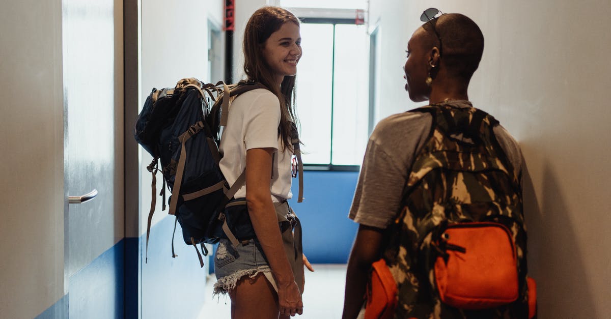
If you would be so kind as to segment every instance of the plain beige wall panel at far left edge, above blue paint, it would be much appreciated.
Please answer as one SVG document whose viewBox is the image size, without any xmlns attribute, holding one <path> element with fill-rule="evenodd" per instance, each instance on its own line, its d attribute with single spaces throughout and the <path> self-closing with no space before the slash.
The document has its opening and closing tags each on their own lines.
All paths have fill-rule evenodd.
<svg viewBox="0 0 611 319">
<path fill-rule="evenodd" d="M 61 21 L 60 0 L 0 10 L 2 318 L 35 317 L 64 296 Z"/>
</svg>

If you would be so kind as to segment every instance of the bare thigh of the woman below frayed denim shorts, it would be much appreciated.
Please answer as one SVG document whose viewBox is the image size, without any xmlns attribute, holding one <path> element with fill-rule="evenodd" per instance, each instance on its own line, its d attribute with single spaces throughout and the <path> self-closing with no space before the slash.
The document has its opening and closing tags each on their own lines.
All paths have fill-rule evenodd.
<svg viewBox="0 0 611 319">
<path fill-rule="evenodd" d="M 242 277 L 229 292 L 232 319 L 278 318 L 278 296 L 265 275 Z"/>
</svg>

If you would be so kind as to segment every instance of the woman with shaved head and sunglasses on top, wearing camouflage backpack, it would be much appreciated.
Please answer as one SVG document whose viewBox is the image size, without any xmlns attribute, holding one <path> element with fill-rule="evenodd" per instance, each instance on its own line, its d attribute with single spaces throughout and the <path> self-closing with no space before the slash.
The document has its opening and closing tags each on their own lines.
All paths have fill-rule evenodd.
<svg viewBox="0 0 611 319">
<path fill-rule="evenodd" d="M 349 213 L 360 226 L 343 318 L 528 318 L 521 151 L 494 117 L 473 107 L 467 92 L 484 37 L 459 13 L 428 9 L 421 20 L 408 42 L 404 85 L 412 101 L 428 105 L 387 117 L 371 133 Z M 430 265 L 466 250 L 448 244 L 448 224 L 505 217 L 513 235 L 507 241 L 514 244 L 515 298 L 469 309 L 442 301 L 441 290 L 456 287 L 441 287 Z M 396 288 L 390 303 L 367 288 L 377 276 L 371 279 L 372 265 Z M 479 266 L 483 274 L 489 270 Z"/>
</svg>

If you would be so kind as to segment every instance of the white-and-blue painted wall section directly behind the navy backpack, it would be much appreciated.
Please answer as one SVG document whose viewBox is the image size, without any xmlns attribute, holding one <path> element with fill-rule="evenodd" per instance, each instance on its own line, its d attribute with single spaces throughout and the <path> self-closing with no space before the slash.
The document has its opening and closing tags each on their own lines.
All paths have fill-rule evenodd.
<svg viewBox="0 0 611 319">
<path fill-rule="evenodd" d="M 223 21 L 222 1 L 189 0 L 180 5 L 166 0 L 142 1 L 140 13 L 141 56 L 136 63 L 140 70 L 141 92 L 137 93 L 137 103 L 126 106 L 132 114 L 139 112 L 153 87 L 174 87 L 182 78 L 198 78 L 206 82 L 218 80 L 208 76 L 208 20 L 214 24 Z M 126 98 L 134 99 L 136 92 L 128 94 L 130 97 Z M 133 122 L 131 125 L 133 127 Z M 126 139 L 126 144 L 136 147 L 133 136 Z M 137 311 L 141 318 L 195 318 L 202 303 L 211 300 L 210 294 L 202 290 L 207 281 L 209 263 L 205 259 L 205 268 L 200 268 L 196 252 L 182 239 L 180 226 L 174 242 L 178 257 L 172 258 L 175 218 L 167 214 L 167 208 L 161 210 L 160 196 L 156 196 L 148 262 L 145 263 L 152 182 L 152 175 L 146 167 L 152 157 L 141 147 L 137 147 L 137 152 L 140 180 L 138 222 L 137 228 L 134 223 L 127 234 L 128 243 L 131 243 L 128 249 L 137 256 L 137 260 L 131 261 L 130 268 L 134 276 L 139 276 L 139 283 L 133 277 L 127 278 L 131 285 L 139 284 Z M 163 186 L 161 172 L 158 172 L 156 181 L 156 193 L 159 194 Z M 167 192 L 166 196 L 169 195 Z"/>
</svg>

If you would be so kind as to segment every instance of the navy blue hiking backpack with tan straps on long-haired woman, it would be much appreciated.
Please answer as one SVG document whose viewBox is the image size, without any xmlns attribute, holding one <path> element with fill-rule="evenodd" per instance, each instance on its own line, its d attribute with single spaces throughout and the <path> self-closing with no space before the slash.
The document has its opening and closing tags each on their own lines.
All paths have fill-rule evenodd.
<svg viewBox="0 0 611 319">
<path fill-rule="evenodd" d="M 198 244 L 203 255 L 207 255 L 204 243 L 214 244 L 220 238 L 229 238 L 233 243 L 242 238 L 254 238 L 246 205 L 227 205 L 244 185 L 245 174 L 243 172 L 232 186 L 228 185 L 219 168 L 218 145 L 219 127 L 227 124 L 230 97 L 258 88 L 263 86 L 254 81 L 227 86 L 224 82 L 204 84 L 195 78 L 185 78 L 175 87 L 152 90 L 134 128 L 138 144 L 153 156 L 147 167 L 153 174 L 147 252 L 158 171 L 163 174 L 164 186 L 159 194 L 163 196 L 163 210 L 167 185 L 172 194 L 169 214 L 175 215 L 180 223 L 185 243 L 196 248 L 200 266 L 203 267 L 203 259 Z M 301 160 L 298 151 L 296 155 Z M 174 235 L 172 257 L 176 257 Z"/>
</svg>

